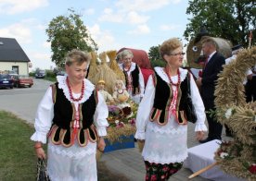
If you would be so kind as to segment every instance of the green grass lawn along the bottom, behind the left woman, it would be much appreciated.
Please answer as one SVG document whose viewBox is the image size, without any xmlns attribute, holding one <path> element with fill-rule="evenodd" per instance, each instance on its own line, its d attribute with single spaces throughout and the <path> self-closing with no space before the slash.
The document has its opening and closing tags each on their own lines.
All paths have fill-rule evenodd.
<svg viewBox="0 0 256 181">
<path fill-rule="evenodd" d="M 0 180 L 35 180 L 37 158 L 30 139 L 33 127 L 5 111 L 0 111 L 0 127 Z M 127 180 L 122 175 L 109 172 L 103 162 L 97 163 L 97 170 L 99 181 Z"/>
</svg>

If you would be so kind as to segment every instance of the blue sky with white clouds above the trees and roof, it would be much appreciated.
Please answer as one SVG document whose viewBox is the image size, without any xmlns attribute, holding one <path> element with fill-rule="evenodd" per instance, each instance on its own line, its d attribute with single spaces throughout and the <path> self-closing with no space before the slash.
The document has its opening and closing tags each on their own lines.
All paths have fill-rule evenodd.
<svg viewBox="0 0 256 181">
<path fill-rule="evenodd" d="M 48 23 L 73 8 L 83 17 L 98 52 L 122 47 L 143 49 L 179 37 L 188 16 L 186 0 L 0 0 L 0 37 L 15 38 L 32 61 L 32 69 L 53 68 Z"/>
</svg>

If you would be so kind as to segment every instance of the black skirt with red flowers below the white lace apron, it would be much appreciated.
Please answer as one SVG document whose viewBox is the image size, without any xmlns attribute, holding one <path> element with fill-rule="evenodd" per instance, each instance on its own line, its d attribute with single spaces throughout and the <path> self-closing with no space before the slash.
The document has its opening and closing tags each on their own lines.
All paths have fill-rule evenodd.
<svg viewBox="0 0 256 181">
<path fill-rule="evenodd" d="M 160 181 L 168 180 L 169 177 L 176 172 L 178 172 L 183 163 L 149 163 L 145 161 L 146 164 L 146 181 Z"/>
</svg>

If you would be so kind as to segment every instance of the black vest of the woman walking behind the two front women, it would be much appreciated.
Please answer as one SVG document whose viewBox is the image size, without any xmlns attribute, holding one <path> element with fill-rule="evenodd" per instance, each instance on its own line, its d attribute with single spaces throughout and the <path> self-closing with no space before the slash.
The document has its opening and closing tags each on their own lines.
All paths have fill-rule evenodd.
<svg viewBox="0 0 256 181">
<path fill-rule="evenodd" d="M 125 77 L 125 85 L 128 85 L 128 74 L 124 71 L 124 77 Z M 131 77 L 133 80 L 133 94 L 140 93 L 140 87 L 139 87 L 139 67 L 135 65 L 134 71 L 131 72 Z"/>
</svg>

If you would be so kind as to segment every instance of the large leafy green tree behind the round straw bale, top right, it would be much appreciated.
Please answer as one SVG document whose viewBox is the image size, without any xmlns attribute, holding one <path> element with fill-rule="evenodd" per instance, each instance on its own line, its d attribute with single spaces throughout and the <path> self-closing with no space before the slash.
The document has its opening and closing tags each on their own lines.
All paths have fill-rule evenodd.
<svg viewBox="0 0 256 181">
<path fill-rule="evenodd" d="M 204 25 L 211 36 L 221 37 L 233 44 L 249 45 L 249 33 L 256 37 L 256 6 L 252 0 L 191 0 L 186 9 L 190 22 L 184 36 L 189 41 Z M 251 44 L 255 44 L 255 38 Z"/>
</svg>

